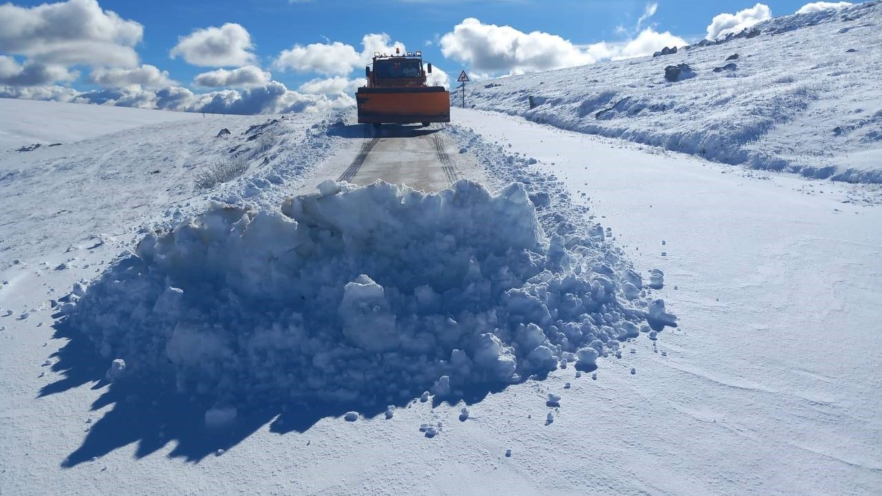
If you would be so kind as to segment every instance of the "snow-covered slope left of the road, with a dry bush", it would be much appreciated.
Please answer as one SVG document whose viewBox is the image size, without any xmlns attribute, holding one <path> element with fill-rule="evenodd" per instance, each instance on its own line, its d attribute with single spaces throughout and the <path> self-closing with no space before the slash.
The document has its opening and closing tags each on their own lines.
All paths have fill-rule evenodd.
<svg viewBox="0 0 882 496">
<path fill-rule="evenodd" d="M 22 102 L 31 108 L 43 103 Z M 109 125 L 91 114 L 94 105 L 58 105 L 82 112 L 74 120 L 94 118 L 98 129 Z M 115 120 L 116 113 L 109 117 Z M 36 262 L 71 245 L 111 238 L 131 244 L 142 224 L 170 226 L 210 200 L 277 206 L 333 154 L 325 127 L 338 118 L 199 116 L 30 152 L 0 151 L 0 197 L 10 221 L 0 229 L 0 271 L 13 260 Z"/>
</svg>

